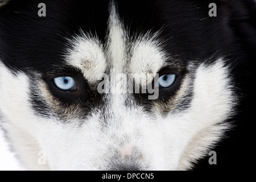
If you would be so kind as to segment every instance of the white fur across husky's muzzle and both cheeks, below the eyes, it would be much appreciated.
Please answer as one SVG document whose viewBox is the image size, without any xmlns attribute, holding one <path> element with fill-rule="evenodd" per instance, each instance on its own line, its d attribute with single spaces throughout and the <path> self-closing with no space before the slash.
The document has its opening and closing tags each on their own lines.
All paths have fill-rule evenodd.
<svg viewBox="0 0 256 182">
<path fill-rule="evenodd" d="M 108 169 L 115 150 L 121 154 L 119 162 L 130 155 L 131 151 L 124 152 L 126 146 L 139 149 L 138 155 L 143 158 L 138 162 L 144 169 L 186 169 L 229 128 L 216 126 L 232 109 L 232 92 L 227 86 L 230 79 L 225 76 L 227 70 L 222 61 L 197 69 L 192 105 L 184 113 L 153 119 L 138 106 L 127 109 L 119 96 L 119 101 L 108 98 L 108 113 L 104 113 L 108 121 L 101 121 L 101 111 L 95 110 L 80 127 L 79 121 L 64 124 L 35 117 L 28 104 L 28 78 L 23 73 L 15 77 L 1 65 L 0 88 L 5 91 L 0 96 L 3 126 L 28 169 L 47 168 L 36 163 L 39 151 L 46 152 L 51 169 Z"/>
</svg>

